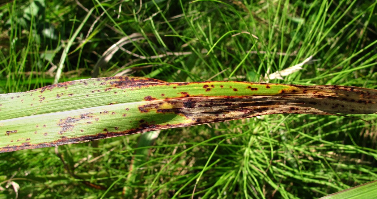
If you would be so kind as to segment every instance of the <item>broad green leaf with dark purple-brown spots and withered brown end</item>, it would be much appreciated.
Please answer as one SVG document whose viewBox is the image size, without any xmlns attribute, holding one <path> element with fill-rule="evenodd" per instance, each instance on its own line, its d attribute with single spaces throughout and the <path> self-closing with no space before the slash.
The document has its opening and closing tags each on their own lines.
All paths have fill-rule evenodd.
<svg viewBox="0 0 377 199">
<path fill-rule="evenodd" d="M 0 152 L 266 114 L 373 114 L 377 90 L 103 77 L 0 94 Z"/>
</svg>

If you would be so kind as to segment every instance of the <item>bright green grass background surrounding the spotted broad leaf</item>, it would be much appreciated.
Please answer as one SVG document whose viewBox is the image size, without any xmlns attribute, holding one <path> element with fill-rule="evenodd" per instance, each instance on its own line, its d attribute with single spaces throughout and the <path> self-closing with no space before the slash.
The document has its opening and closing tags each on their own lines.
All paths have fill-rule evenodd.
<svg viewBox="0 0 377 199">
<path fill-rule="evenodd" d="M 90 78 L 133 33 L 141 39 L 98 76 L 376 88 L 376 4 L 0 1 L 0 93 Z M 283 80 L 265 78 L 309 56 L 317 61 Z M 371 124 L 279 114 L 167 129 L 147 144 L 136 134 L 1 153 L 0 198 L 322 197 L 377 177 L 377 117 L 357 117 Z"/>
</svg>

